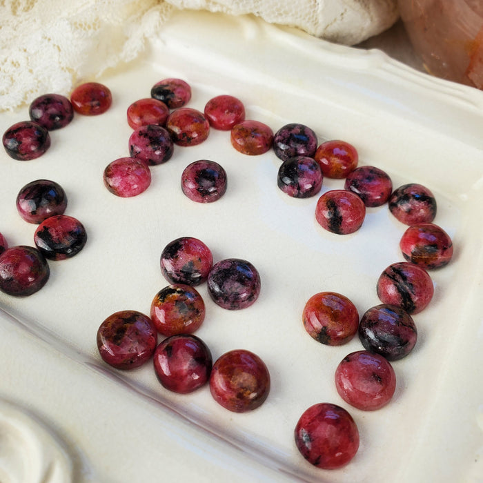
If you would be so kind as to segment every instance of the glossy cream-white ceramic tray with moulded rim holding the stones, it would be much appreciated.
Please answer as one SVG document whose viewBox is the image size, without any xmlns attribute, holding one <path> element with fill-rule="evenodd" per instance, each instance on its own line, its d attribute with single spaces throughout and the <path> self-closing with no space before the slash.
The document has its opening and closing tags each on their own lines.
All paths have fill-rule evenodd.
<svg viewBox="0 0 483 483">
<path fill-rule="evenodd" d="M 377 277 L 402 260 L 405 229 L 387 206 L 368 210 L 353 235 L 325 232 L 315 222 L 317 197 L 290 199 L 277 188 L 280 161 L 273 153 L 242 155 L 228 132 L 215 130 L 199 146 L 175 147 L 168 163 L 152 168 L 144 194 L 120 199 L 103 187 L 105 166 L 128 155 L 126 108 L 166 77 L 190 83 L 191 107 L 203 110 L 215 95 L 235 95 L 247 118 L 274 131 L 288 122 L 306 124 L 319 141 L 354 144 L 360 164 L 386 170 L 395 187 L 417 182 L 433 190 L 435 223 L 453 237 L 455 256 L 431 272 L 435 297 L 414 317 L 415 350 L 393 363 L 391 404 L 371 413 L 345 404 L 333 375 L 345 355 L 362 348 L 359 340 L 323 346 L 301 322 L 306 300 L 322 290 L 346 295 L 360 315 L 379 303 Z M 39 159 L 14 161 L 0 152 L 0 232 L 11 246 L 33 243 L 35 226 L 19 217 L 14 200 L 34 179 L 61 184 L 66 214 L 88 231 L 79 255 L 50 264 L 50 280 L 38 293 L 0 294 L 6 441 L 0 480 L 477 481 L 483 474 L 483 92 L 422 75 L 381 52 L 333 46 L 255 17 L 202 12 L 177 14 L 143 58 L 100 80 L 112 90 L 108 112 L 77 115 L 52 132 L 52 146 Z M 0 128 L 27 118 L 27 108 L 3 114 Z M 181 172 L 196 159 L 218 161 L 228 173 L 228 191 L 213 204 L 195 204 L 181 193 Z M 342 186 L 326 179 L 322 190 Z M 259 299 L 242 311 L 215 306 L 206 286 L 199 287 L 206 319 L 197 335 L 214 359 L 246 348 L 270 370 L 268 400 L 252 413 L 226 411 L 208 387 L 168 393 L 150 364 L 115 371 L 97 353 L 97 328 L 108 315 L 149 312 L 167 285 L 161 250 L 180 236 L 203 240 L 215 261 L 248 259 L 261 274 Z M 359 452 L 344 469 L 315 469 L 295 447 L 295 424 L 316 402 L 347 408 L 359 426 Z"/>
</svg>

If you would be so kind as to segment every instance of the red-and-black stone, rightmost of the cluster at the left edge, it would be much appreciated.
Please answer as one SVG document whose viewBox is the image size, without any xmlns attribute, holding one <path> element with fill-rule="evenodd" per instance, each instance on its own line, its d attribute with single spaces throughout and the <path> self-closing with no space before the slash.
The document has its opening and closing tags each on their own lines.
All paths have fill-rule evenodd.
<svg viewBox="0 0 483 483">
<path fill-rule="evenodd" d="M 86 228 L 74 217 L 55 215 L 39 224 L 34 242 L 43 256 L 50 260 L 71 258 L 86 245 Z"/>
</svg>

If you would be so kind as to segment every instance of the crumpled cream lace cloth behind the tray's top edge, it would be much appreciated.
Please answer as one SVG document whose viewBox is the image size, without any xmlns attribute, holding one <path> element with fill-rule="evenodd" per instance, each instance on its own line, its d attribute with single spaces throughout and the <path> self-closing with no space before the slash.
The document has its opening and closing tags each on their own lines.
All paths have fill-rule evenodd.
<svg viewBox="0 0 483 483">
<path fill-rule="evenodd" d="M 3 0 L 0 111 L 128 62 L 176 9 L 255 14 L 353 45 L 397 20 L 396 0 Z"/>
</svg>

